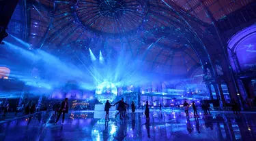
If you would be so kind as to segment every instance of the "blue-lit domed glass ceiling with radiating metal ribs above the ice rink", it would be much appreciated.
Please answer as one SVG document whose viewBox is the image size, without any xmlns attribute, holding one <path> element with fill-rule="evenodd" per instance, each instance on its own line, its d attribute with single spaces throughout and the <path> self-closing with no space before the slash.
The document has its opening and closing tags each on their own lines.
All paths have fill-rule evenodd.
<svg viewBox="0 0 256 141">
<path fill-rule="evenodd" d="M 252 1 L 31 0 L 27 40 L 64 61 L 125 50 L 145 71 L 185 75 L 207 58 L 205 28 Z"/>
</svg>

